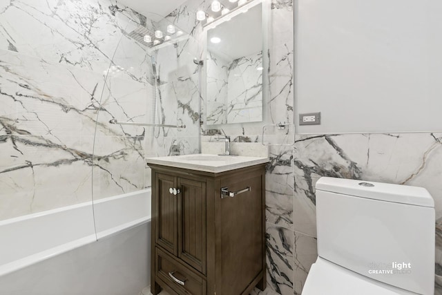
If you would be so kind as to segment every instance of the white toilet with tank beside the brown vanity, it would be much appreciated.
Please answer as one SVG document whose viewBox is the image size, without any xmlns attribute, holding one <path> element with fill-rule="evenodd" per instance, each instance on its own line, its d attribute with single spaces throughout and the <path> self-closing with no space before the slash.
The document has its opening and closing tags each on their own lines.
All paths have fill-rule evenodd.
<svg viewBox="0 0 442 295">
<path fill-rule="evenodd" d="M 426 189 L 316 182 L 318 258 L 302 295 L 434 294 L 434 200 Z"/>
</svg>

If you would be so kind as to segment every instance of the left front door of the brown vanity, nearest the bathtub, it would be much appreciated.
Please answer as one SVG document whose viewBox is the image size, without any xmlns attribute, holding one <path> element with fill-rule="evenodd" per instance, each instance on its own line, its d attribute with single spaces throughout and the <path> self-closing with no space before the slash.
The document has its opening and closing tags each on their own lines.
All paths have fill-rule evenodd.
<svg viewBox="0 0 442 295">
<path fill-rule="evenodd" d="M 155 242 L 175 256 L 178 253 L 177 196 L 169 189 L 176 188 L 176 184 L 175 177 L 157 173 Z"/>
</svg>

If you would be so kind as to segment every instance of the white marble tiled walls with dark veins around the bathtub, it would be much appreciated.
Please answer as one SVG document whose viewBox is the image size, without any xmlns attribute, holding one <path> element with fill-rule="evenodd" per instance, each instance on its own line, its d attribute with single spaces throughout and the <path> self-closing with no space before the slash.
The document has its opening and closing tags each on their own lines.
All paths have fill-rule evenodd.
<svg viewBox="0 0 442 295">
<path fill-rule="evenodd" d="M 130 37 L 161 25 L 117 1 L 0 1 L 0 220 L 143 189 L 146 154 L 198 151 L 197 42 Z M 109 124 L 153 120 L 151 55 L 157 122 L 186 129 Z"/>
</svg>

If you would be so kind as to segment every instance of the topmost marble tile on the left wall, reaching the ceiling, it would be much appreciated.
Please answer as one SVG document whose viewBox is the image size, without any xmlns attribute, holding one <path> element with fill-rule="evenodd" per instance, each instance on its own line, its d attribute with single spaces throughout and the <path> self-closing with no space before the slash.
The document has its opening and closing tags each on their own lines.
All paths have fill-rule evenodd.
<svg viewBox="0 0 442 295">
<path fill-rule="evenodd" d="M 96 73 L 106 70 L 113 57 L 117 57 L 114 62 L 121 62 L 119 66 L 123 68 L 127 68 L 127 59 L 132 66 L 140 66 L 144 60 L 144 55 L 123 54 L 144 51 L 132 39 L 122 38 L 123 32 L 128 34 L 136 28 L 136 15 L 106 0 L 15 1 L 4 5 L 0 19 L 2 49 Z M 122 44 L 120 52 L 115 53 L 119 44 Z M 142 72 L 138 73 L 139 77 Z"/>
</svg>

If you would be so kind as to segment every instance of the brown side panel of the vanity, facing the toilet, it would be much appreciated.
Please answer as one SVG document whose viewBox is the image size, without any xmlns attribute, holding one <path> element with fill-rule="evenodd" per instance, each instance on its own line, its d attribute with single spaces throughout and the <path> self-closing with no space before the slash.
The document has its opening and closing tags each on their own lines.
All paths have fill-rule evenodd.
<svg viewBox="0 0 442 295">
<path fill-rule="evenodd" d="M 262 272 L 262 182 L 261 176 L 239 175 L 236 182 L 222 183 L 229 191 L 250 187 L 251 191 L 220 200 L 220 263 L 222 294 L 242 294 Z M 219 231 L 218 231 L 219 230 Z"/>
</svg>

